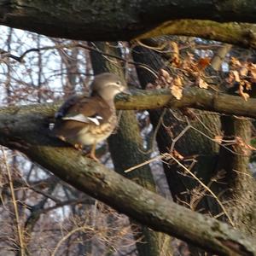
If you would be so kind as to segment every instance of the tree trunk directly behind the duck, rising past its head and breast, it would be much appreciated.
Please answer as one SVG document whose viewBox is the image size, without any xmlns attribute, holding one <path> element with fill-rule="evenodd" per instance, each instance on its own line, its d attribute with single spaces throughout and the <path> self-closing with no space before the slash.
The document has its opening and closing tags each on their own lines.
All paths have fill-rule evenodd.
<svg viewBox="0 0 256 256">
<path fill-rule="evenodd" d="M 112 55 L 120 55 L 117 44 L 104 42 L 94 43 L 97 49 Z M 125 74 L 122 63 L 109 61 L 102 54 L 90 52 L 94 73 L 116 73 L 125 83 Z M 143 154 L 143 139 L 140 134 L 137 117 L 134 111 L 124 111 L 119 119 L 119 129 L 108 138 L 109 151 L 112 156 L 114 170 L 119 174 L 134 180 L 144 188 L 156 192 L 154 178 L 150 167 L 143 166 L 136 171 L 125 174 L 124 170 L 137 166 L 148 160 L 148 155 Z M 131 220 L 132 221 L 132 220 Z M 133 226 L 133 225 L 132 225 Z M 136 224 L 134 230 L 137 240 L 137 251 L 143 256 L 172 255 L 171 237 L 160 234 L 148 227 Z"/>
</svg>

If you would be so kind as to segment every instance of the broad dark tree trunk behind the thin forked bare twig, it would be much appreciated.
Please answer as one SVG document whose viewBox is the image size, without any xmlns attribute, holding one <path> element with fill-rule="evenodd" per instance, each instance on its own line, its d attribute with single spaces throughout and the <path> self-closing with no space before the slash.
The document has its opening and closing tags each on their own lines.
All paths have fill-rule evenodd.
<svg viewBox="0 0 256 256">
<path fill-rule="evenodd" d="M 164 67 L 165 61 L 162 60 L 160 54 L 141 46 L 136 47 L 133 50 L 133 57 L 135 61 L 142 62 L 154 70 L 159 70 Z M 146 69 L 137 67 L 137 73 L 143 88 L 148 83 L 154 83 L 154 76 L 152 76 L 151 73 L 148 73 Z M 172 145 L 172 137 L 175 138 L 179 136 L 183 129 L 188 126 L 185 119 L 183 119 L 182 114 L 175 110 L 174 112 L 175 114 L 166 111 L 164 116 L 162 116 L 162 110 L 153 109 L 149 111 L 154 129 L 157 129 L 156 127 L 159 126 L 161 119 L 163 122 L 163 124 L 159 126 L 156 135 L 158 147 L 162 154 L 169 152 Z M 200 115 L 201 113 L 197 114 Z M 180 119 L 183 119 L 183 121 L 179 121 L 180 119 L 177 119 L 177 116 Z M 199 118 L 209 130 L 201 125 L 197 119 L 195 121 L 190 120 L 191 125 L 199 131 L 204 132 L 209 137 L 212 137 L 212 134 L 218 134 L 219 121 L 217 115 L 207 112 L 207 114 L 200 116 Z M 209 131 L 211 131 L 212 134 L 208 134 Z M 204 183 L 209 182 L 212 177 L 212 172 L 214 172 L 214 163 L 216 162 L 218 154 L 218 145 L 216 143 L 209 142 L 207 137 L 204 137 L 195 130 L 189 129 L 183 134 L 183 137 L 180 137 L 180 139 L 177 140 L 174 149 L 184 157 L 193 157 L 193 155 L 196 155 L 195 159 L 197 160 L 197 163 L 193 168 L 193 172 L 196 172 L 196 176 L 201 177 Z M 197 186 L 198 183 L 191 177 L 186 177 L 181 174 L 183 173 L 183 168 L 178 166 L 177 163 L 164 165 L 164 168 L 173 199 L 179 202 L 190 203 L 192 195 L 186 195 L 184 192 L 187 191 L 187 189 L 195 189 L 195 186 Z M 190 207 L 193 206 L 190 205 Z M 204 207 L 205 210 L 208 208 L 206 203 L 203 206 L 200 204 L 198 207 Z"/>
</svg>

